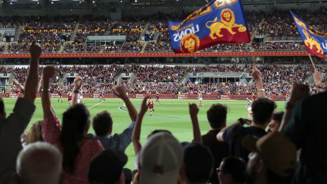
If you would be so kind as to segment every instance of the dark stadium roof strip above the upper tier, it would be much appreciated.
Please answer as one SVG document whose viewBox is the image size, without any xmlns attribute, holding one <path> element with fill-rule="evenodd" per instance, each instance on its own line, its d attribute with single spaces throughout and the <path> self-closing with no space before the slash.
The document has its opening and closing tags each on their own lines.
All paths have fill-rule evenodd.
<svg viewBox="0 0 327 184">
<path fill-rule="evenodd" d="M 267 5 L 267 4 L 303 4 L 303 3 L 327 3 L 317 0 L 241 0 L 243 5 Z M 142 3 L 152 3 L 144 5 Z M 48 9 L 71 9 L 71 8 L 132 8 L 132 7 L 201 7 L 210 0 L 0 0 L 0 8 L 48 8 Z M 153 3 L 155 5 L 153 5 Z"/>
</svg>

